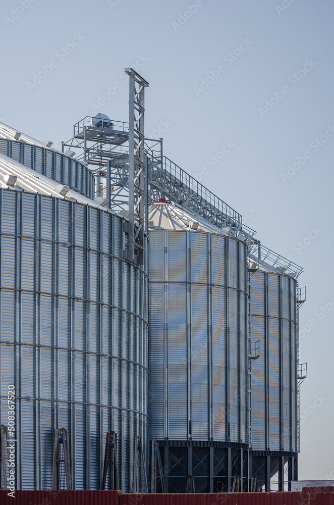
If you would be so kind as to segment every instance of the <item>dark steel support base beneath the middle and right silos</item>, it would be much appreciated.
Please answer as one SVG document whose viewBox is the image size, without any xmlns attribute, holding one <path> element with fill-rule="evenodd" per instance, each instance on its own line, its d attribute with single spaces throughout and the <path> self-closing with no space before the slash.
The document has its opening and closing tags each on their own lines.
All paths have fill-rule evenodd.
<svg viewBox="0 0 334 505">
<path fill-rule="evenodd" d="M 298 478 L 295 453 L 195 440 L 162 440 L 159 446 L 167 493 L 193 492 L 193 484 L 196 493 L 283 491 Z"/>
</svg>

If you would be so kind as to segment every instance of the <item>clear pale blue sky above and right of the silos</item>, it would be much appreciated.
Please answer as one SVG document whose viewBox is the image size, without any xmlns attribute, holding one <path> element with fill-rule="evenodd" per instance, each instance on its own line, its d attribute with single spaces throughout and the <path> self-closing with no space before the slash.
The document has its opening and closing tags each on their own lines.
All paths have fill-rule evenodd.
<svg viewBox="0 0 334 505">
<path fill-rule="evenodd" d="M 133 67 L 146 134 L 304 268 L 300 480 L 334 479 L 333 15 L 332 0 L 0 5 L 0 121 L 56 147 L 85 116 L 128 121 Z"/>
</svg>

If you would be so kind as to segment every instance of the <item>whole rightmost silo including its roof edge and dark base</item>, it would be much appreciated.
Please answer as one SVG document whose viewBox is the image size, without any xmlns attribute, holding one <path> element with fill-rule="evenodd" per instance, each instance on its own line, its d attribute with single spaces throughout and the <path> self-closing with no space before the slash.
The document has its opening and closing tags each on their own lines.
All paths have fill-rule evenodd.
<svg viewBox="0 0 334 505">
<path fill-rule="evenodd" d="M 290 268 L 289 268 L 290 267 Z M 298 270 L 253 258 L 251 336 L 259 357 L 252 365 L 251 472 L 259 487 L 270 479 L 284 490 L 297 480 L 298 456 Z"/>
</svg>

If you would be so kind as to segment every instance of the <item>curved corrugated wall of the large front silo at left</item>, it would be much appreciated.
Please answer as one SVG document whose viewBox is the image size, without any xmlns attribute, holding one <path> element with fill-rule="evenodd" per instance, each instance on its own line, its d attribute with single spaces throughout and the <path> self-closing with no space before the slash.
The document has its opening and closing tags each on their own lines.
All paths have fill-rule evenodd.
<svg viewBox="0 0 334 505">
<path fill-rule="evenodd" d="M 72 489 L 100 489 L 107 431 L 121 489 L 147 432 L 146 273 L 122 257 L 122 218 L 0 191 L 1 423 L 15 384 L 18 489 L 51 487 L 54 429 L 69 429 Z"/>
</svg>

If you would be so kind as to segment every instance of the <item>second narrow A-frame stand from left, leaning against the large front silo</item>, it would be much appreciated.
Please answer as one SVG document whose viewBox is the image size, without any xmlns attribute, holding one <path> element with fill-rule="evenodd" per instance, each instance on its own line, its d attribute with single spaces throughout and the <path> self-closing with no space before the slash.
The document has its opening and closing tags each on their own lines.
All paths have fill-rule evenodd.
<svg viewBox="0 0 334 505">
<path fill-rule="evenodd" d="M 71 491 L 70 443 L 68 430 L 65 428 L 54 431 L 51 489 Z"/>
</svg>

